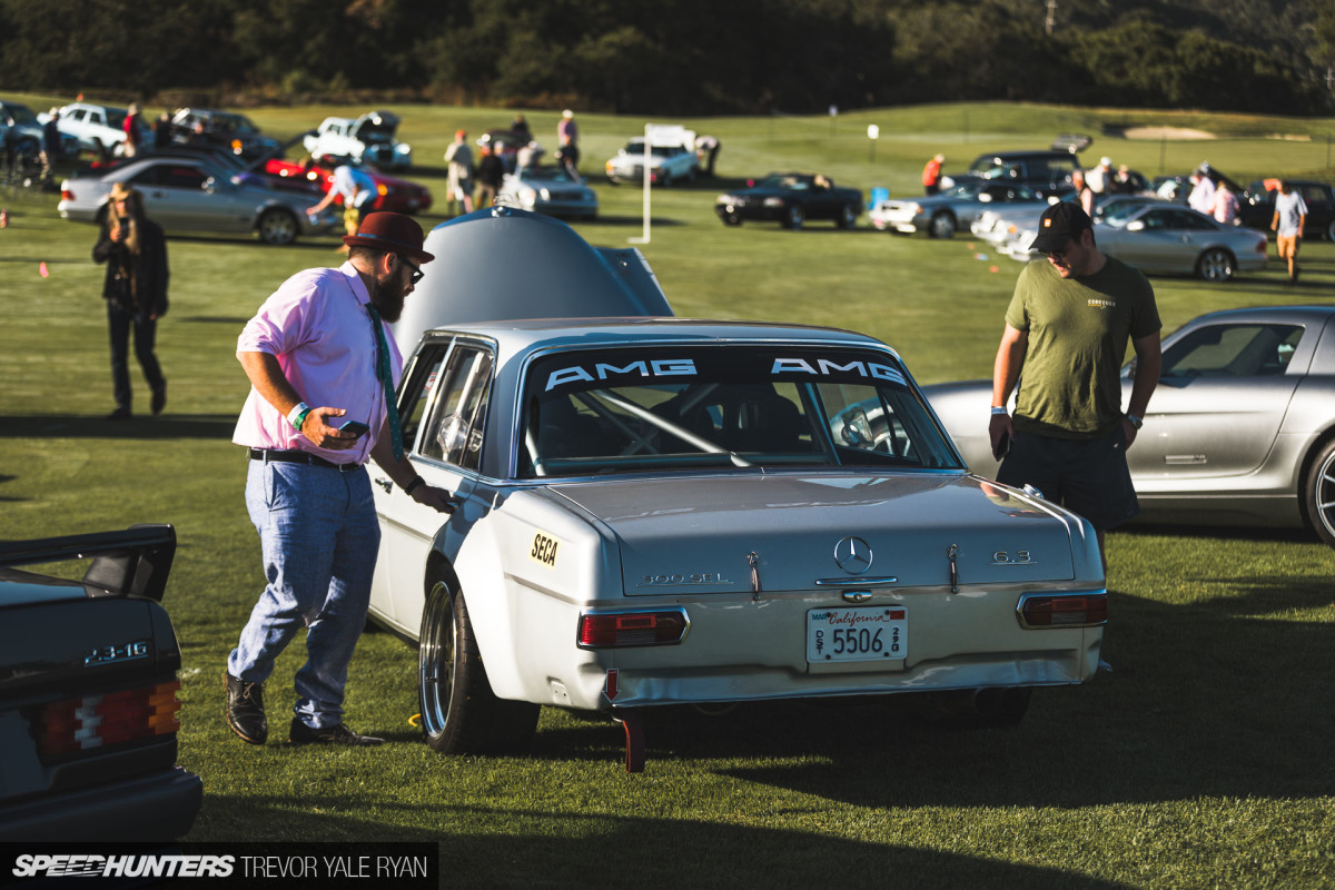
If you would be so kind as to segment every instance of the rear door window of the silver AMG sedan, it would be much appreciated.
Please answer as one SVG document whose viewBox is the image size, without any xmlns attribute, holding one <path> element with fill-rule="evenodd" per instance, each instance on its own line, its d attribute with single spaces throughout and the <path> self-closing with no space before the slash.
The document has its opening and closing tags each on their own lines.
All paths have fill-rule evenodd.
<svg viewBox="0 0 1335 890">
<path fill-rule="evenodd" d="M 445 380 L 426 424 L 422 456 L 477 470 L 490 390 L 491 354 L 457 346 L 446 362 Z"/>
</svg>

